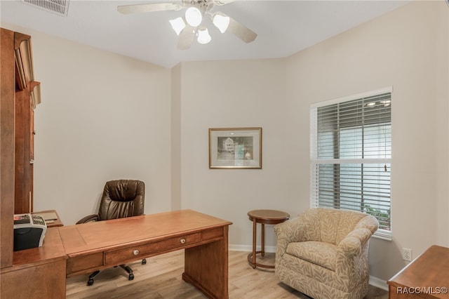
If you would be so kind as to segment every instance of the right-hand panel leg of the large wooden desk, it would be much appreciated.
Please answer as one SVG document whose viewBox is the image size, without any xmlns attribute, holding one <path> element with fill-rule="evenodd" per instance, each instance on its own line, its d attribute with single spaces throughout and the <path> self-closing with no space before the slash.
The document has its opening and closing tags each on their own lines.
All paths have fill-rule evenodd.
<svg viewBox="0 0 449 299">
<path fill-rule="evenodd" d="M 182 279 L 208 298 L 228 299 L 228 226 L 223 239 L 185 249 Z"/>
</svg>

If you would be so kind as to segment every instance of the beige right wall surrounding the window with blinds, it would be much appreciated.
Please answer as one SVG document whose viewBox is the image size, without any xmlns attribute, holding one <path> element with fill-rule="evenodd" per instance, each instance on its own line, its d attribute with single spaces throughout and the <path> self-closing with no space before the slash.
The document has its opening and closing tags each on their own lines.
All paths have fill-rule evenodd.
<svg viewBox="0 0 449 299">
<path fill-rule="evenodd" d="M 370 246 L 370 273 L 380 279 L 405 265 L 401 248 L 416 257 L 449 244 L 448 11 L 442 1 L 410 4 L 288 58 L 295 166 L 308 162 L 311 103 L 393 86 L 393 241 Z"/>
</svg>

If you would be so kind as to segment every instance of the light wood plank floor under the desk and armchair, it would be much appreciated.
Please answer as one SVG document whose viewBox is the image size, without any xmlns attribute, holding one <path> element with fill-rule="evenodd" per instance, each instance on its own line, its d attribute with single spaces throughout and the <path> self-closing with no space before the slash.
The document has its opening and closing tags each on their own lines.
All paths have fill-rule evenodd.
<svg viewBox="0 0 449 299">
<path fill-rule="evenodd" d="M 277 299 L 309 298 L 282 284 L 274 270 L 253 270 L 246 259 L 248 253 L 229 251 L 229 298 Z M 266 255 L 264 263 L 272 263 L 274 254 Z M 67 299 L 74 298 L 206 298 L 194 286 L 182 280 L 184 251 L 175 251 L 147 258 L 147 265 L 140 262 L 128 264 L 135 278 L 128 281 L 128 274 L 120 267 L 102 270 L 95 277 L 93 286 L 86 286 L 88 275 L 67 279 Z M 370 286 L 366 299 L 386 299 L 387 291 Z"/>
</svg>

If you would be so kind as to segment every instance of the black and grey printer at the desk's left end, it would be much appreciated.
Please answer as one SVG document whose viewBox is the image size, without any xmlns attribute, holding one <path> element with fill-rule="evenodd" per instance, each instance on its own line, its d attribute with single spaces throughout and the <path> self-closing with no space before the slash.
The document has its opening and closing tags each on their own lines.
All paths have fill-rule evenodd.
<svg viewBox="0 0 449 299">
<path fill-rule="evenodd" d="M 47 225 L 43 217 L 32 214 L 14 215 L 14 251 L 41 247 Z"/>
</svg>

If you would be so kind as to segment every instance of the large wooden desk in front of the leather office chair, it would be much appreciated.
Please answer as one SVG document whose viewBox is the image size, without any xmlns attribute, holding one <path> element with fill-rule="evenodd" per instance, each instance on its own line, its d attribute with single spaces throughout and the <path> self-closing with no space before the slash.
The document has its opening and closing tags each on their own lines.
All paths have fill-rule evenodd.
<svg viewBox="0 0 449 299">
<path fill-rule="evenodd" d="M 47 233 L 51 232 L 52 237 L 47 239 L 46 235 L 40 250 L 50 252 L 55 244 L 63 246 L 63 254 L 59 258 L 67 258 L 67 264 L 63 263 L 63 268 L 46 271 L 52 272 L 55 277 L 62 277 L 64 285 L 62 290 L 60 284 L 53 287 L 51 281 L 46 281 L 39 287 L 60 288 L 59 293 L 64 291 L 64 295 L 42 296 L 44 293 L 39 288 L 38 291 L 20 288 L 18 281 L 21 279 L 18 279 L 18 276 L 14 277 L 18 280 L 14 281 L 11 277 L 4 283 L 2 269 L 1 297 L 4 296 L 4 288 L 9 288 L 14 290 L 5 291 L 5 294 L 14 296 L 6 295 L 5 298 L 29 298 L 29 295 L 38 295 L 39 298 L 65 298 L 64 277 L 185 249 L 185 272 L 182 279 L 196 286 L 209 298 L 229 298 L 228 230 L 231 224 L 232 222 L 210 215 L 183 210 L 49 228 Z M 20 253 L 18 260 L 27 265 L 27 253 L 37 254 L 38 250 L 39 248 L 32 248 L 25 250 L 27 252 L 17 251 L 17 254 Z M 41 258 L 45 260 L 51 257 Z M 16 263 L 16 259 L 14 262 Z"/>
</svg>

